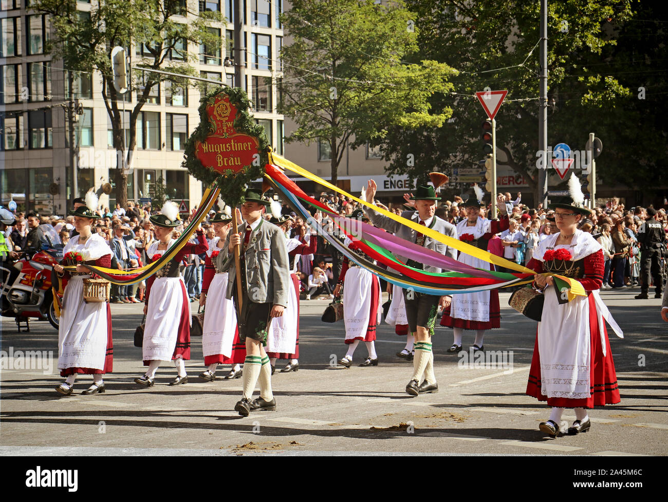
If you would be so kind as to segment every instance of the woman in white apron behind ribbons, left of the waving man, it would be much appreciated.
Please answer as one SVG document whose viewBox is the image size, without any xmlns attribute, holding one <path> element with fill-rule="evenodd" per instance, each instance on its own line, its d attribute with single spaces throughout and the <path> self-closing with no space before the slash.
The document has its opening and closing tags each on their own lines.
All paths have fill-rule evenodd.
<svg viewBox="0 0 668 502">
<path fill-rule="evenodd" d="M 362 218 L 368 221 L 361 210 L 355 210 L 351 218 Z M 347 248 L 356 250 L 355 242 L 349 237 L 343 243 Z M 344 286 L 345 282 L 345 286 Z M 343 288 L 343 322 L 345 322 L 345 344 L 348 350 L 345 356 L 339 359 L 339 364 L 350 368 L 353 364 L 353 354 L 360 341 L 365 342 L 369 355 L 359 366 L 378 366 L 378 356 L 375 351 L 376 326 L 379 324 L 378 306 L 380 303 L 380 282 L 378 278 L 365 268 L 343 259 L 341 274 L 334 290 L 338 296 Z"/>
</svg>

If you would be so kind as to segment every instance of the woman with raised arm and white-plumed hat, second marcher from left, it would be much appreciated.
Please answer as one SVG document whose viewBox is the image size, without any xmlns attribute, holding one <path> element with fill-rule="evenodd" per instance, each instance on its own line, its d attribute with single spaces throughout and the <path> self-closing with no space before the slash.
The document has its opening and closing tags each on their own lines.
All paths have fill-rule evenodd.
<svg viewBox="0 0 668 502">
<path fill-rule="evenodd" d="M 171 239 L 174 227 L 181 224 L 177 219 L 178 206 L 165 202 L 161 214 L 150 216 L 156 241 L 149 247 L 146 257 L 154 262 L 168 252 L 175 240 Z M 146 280 L 144 314 L 144 342 L 142 359 L 148 366 L 146 374 L 134 379 L 140 385 L 153 387 L 156 370 L 160 362 L 174 360 L 178 375 L 169 385 L 188 383 L 185 360 L 190 359 L 190 301 L 186 285 L 179 274 L 178 266 L 186 254 L 202 254 L 208 244 L 201 227 L 197 229 L 198 244 L 188 242 L 176 252 L 158 272 Z"/>
</svg>

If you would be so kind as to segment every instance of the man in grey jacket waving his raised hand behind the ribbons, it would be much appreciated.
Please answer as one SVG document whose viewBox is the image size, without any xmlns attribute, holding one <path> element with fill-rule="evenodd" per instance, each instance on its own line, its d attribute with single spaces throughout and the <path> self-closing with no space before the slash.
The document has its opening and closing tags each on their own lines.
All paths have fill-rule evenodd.
<svg viewBox="0 0 668 502">
<path fill-rule="evenodd" d="M 373 196 L 375 196 L 376 188 L 377 186 L 375 182 L 369 180 L 366 190 L 367 202 L 369 202 L 369 204 L 373 204 Z M 403 218 L 413 220 L 414 222 L 454 239 L 457 238 L 457 230 L 455 226 L 434 215 L 437 201 L 441 199 L 440 197 L 436 197 L 436 192 L 433 186 L 419 186 L 418 190 L 415 192 L 415 196 L 411 197 L 411 200 L 415 200 L 416 211 L 402 212 L 401 216 Z M 416 232 L 387 216 L 382 216 L 374 210 L 366 208 L 366 212 L 375 226 L 383 228 L 387 232 L 391 232 L 397 237 L 409 242 L 414 242 L 415 244 L 418 244 L 418 246 L 424 246 L 425 248 L 435 250 L 440 254 L 450 256 L 450 258 L 457 258 L 456 249 L 446 246 L 446 244 L 438 242 L 420 232 Z M 440 268 L 424 266 L 413 260 L 407 260 L 402 256 L 397 256 L 397 258 L 410 266 L 424 269 L 427 272 L 442 272 Z M 411 396 L 417 396 L 420 395 L 420 393 L 433 393 L 438 391 L 438 383 L 436 383 L 436 377 L 434 376 L 432 334 L 434 334 L 434 324 L 436 323 L 438 307 L 441 306 L 445 308 L 450 305 L 452 297 L 434 296 L 408 290 L 403 290 L 403 296 L 406 306 L 408 328 L 413 333 L 413 336 L 415 336 L 413 377 L 411 377 L 408 385 L 406 385 L 406 392 Z M 424 381 L 422 381 L 423 374 Z M 422 384 L 420 383 L 421 381 Z"/>
</svg>

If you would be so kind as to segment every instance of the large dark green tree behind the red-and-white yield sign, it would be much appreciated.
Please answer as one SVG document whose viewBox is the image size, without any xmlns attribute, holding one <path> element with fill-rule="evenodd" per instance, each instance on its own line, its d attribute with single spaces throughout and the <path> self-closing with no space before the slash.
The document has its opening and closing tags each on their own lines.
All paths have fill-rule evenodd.
<svg viewBox="0 0 668 502">
<path fill-rule="evenodd" d="M 417 176 L 437 166 L 448 171 L 477 165 L 484 157 L 480 135 L 486 115 L 474 93 L 508 89 L 496 117 L 498 164 L 522 174 L 538 200 L 540 3 L 407 0 L 407 7 L 420 27 L 417 57 L 446 62 L 460 73 L 452 95 L 432 98 L 434 107 L 454 109 L 442 128 L 393 127 L 377 141 L 389 172 Z M 601 136 L 623 123 L 621 103 L 635 95 L 623 71 L 615 71 L 621 69 L 615 57 L 626 51 L 618 42 L 632 12 L 630 0 L 548 3 L 548 145 L 565 142 L 583 150 L 589 132 Z M 604 144 L 605 156 L 609 142 Z M 412 169 L 403 162 L 407 154 L 415 155 Z"/>
</svg>

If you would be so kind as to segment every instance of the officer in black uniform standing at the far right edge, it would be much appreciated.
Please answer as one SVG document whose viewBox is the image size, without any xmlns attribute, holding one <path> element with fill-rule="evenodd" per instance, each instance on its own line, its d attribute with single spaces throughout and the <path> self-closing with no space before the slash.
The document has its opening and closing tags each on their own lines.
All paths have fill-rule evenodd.
<svg viewBox="0 0 668 502">
<path fill-rule="evenodd" d="M 641 244 L 640 277 L 641 292 L 636 295 L 637 300 L 649 298 L 649 274 L 654 280 L 654 298 L 661 298 L 663 291 L 663 275 L 661 274 L 661 249 L 665 248 L 666 234 L 661 223 L 654 217 L 657 210 L 647 208 L 647 220 L 638 229 L 638 241 Z"/>
</svg>

